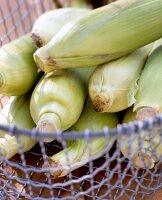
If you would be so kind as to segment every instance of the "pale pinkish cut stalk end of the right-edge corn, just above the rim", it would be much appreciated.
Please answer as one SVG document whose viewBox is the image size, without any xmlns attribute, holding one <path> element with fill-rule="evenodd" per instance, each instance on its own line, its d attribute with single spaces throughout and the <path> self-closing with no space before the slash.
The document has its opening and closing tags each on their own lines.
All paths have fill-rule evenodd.
<svg viewBox="0 0 162 200">
<path fill-rule="evenodd" d="M 148 119 L 150 117 L 155 117 L 158 114 L 160 114 L 159 109 L 151 108 L 151 107 L 145 107 L 145 108 L 142 108 L 142 109 L 137 111 L 136 119 L 137 120 L 145 120 L 145 119 Z"/>
</svg>

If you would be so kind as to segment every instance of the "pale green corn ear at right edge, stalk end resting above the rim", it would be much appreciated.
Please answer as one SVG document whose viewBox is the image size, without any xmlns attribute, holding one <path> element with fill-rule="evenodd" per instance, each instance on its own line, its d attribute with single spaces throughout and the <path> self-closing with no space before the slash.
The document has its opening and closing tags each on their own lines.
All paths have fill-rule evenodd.
<svg viewBox="0 0 162 200">
<path fill-rule="evenodd" d="M 137 119 L 144 120 L 162 113 L 162 39 L 156 44 L 149 55 L 139 79 L 139 90 L 133 110 Z"/>
</svg>

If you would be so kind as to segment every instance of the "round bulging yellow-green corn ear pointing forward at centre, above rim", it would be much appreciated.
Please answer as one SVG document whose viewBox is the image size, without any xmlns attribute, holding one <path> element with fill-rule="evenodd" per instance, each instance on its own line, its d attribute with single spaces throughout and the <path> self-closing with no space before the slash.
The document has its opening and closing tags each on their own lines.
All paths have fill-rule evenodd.
<svg viewBox="0 0 162 200">
<path fill-rule="evenodd" d="M 79 118 L 94 68 L 55 70 L 42 77 L 31 97 L 30 111 L 40 131 L 67 130 Z M 45 142 L 52 139 L 47 138 Z"/>
</svg>

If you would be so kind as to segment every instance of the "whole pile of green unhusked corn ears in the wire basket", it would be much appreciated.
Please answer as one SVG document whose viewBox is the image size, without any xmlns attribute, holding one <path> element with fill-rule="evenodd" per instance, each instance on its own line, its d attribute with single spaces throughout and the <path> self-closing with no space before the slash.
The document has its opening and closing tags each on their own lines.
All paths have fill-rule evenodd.
<svg viewBox="0 0 162 200">
<path fill-rule="evenodd" d="M 44 131 L 55 134 L 57 130 L 84 131 L 89 128 L 98 131 L 104 126 L 116 127 L 119 120 L 115 112 L 130 106 L 135 117 L 126 118 L 131 121 L 161 113 L 162 47 L 153 42 L 162 37 L 162 1 L 118 0 L 105 5 L 109 2 L 91 1 L 93 8 L 97 5 L 95 3 L 100 3 L 98 7 L 101 7 L 90 9 L 87 1 L 71 1 L 72 6 L 82 8 L 52 10 L 35 21 L 30 33 L 34 42 L 25 35 L 0 49 L 0 93 L 15 96 L 11 97 L 14 99 L 9 102 L 11 106 L 7 105 L 0 115 L 2 124 L 28 129 L 35 126 L 40 134 Z M 38 68 L 45 72 L 40 80 Z M 88 95 L 93 107 L 90 100 L 85 104 Z M 30 111 L 23 103 L 15 103 L 19 102 L 15 99 L 21 98 L 22 102 L 30 104 Z M 28 120 L 31 123 L 28 124 Z M 125 157 L 134 157 L 135 167 L 144 168 L 146 163 L 146 167 L 152 168 L 160 159 L 161 144 L 152 156 L 160 135 L 155 130 L 152 134 L 155 136 L 153 142 L 149 142 L 143 132 L 138 138 L 132 134 L 130 154 L 127 154 L 128 146 L 123 145 L 129 138 L 122 137 L 119 141 Z M 0 132 L 0 136 L 1 152 L 9 159 L 18 152 L 16 138 L 4 132 Z M 18 140 L 23 151 L 36 143 L 25 136 L 19 136 Z M 28 142 L 24 143 L 24 140 Z M 139 140 L 144 142 L 141 153 L 146 156 L 143 162 Z M 43 140 L 51 141 L 51 138 Z M 108 137 L 106 143 L 104 138 L 92 139 L 89 144 L 92 159 L 102 150 L 108 151 L 114 141 L 112 137 Z M 9 144 L 12 145 L 8 147 Z M 88 162 L 85 139 L 68 141 L 67 144 L 71 170 Z M 152 147 L 145 151 L 149 145 Z M 54 177 L 68 173 L 65 156 L 61 151 L 49 158 L 50 166 L 64 166 L 59 174 L 51 172 Z"/>
</svg>

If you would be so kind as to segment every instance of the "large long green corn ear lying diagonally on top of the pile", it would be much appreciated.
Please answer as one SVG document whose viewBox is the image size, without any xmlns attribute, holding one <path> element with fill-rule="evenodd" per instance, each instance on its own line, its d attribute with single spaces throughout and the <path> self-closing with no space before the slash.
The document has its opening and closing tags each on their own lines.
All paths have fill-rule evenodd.
<svg viewBox="0 0 162 200">
<path fill-rule="evenodd" d="M 161 0 L 118 0 L 64 26 L 34 59 L 45 72 L 96 66 L 159 39 L 161 27 Z"/>
</svg>

